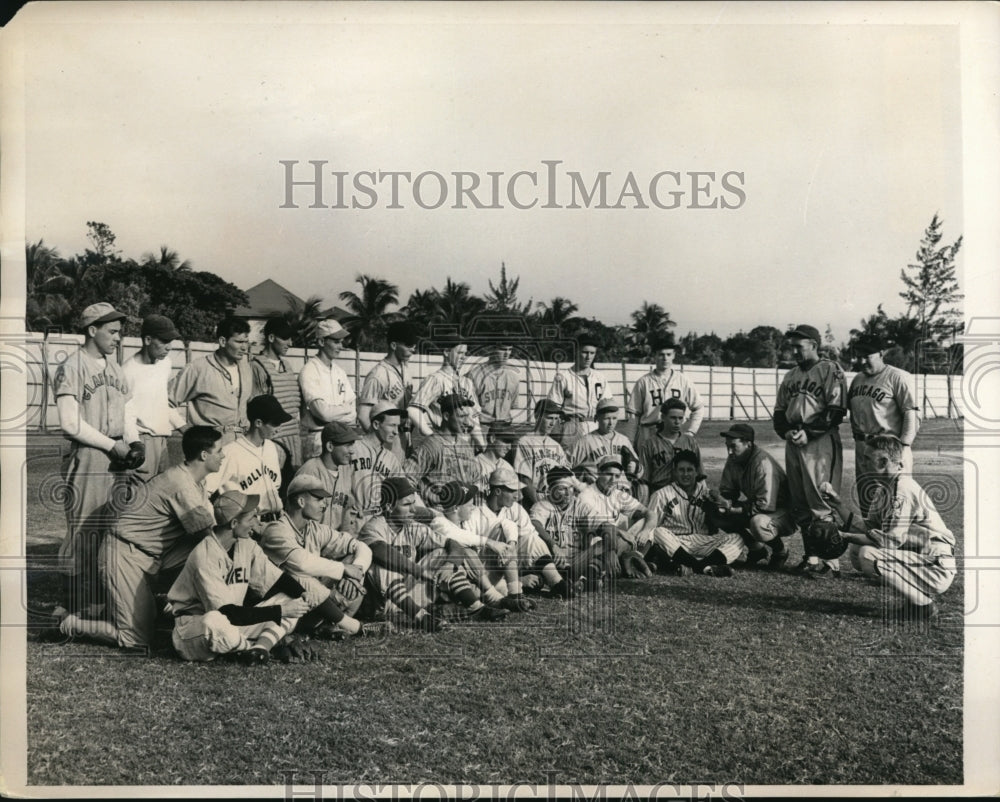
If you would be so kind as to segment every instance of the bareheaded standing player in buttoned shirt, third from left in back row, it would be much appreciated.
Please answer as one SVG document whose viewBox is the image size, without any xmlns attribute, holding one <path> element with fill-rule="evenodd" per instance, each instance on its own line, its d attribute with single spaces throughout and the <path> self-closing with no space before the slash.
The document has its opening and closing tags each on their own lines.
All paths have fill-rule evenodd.
<svg viewBox="0 0 1000 802">
<path fill-rule="evenodd" d="M 170 403 L 187 404 L 187 419 L 196 426 L 222 432 L 222 444 L 250 427 L 247 401 L 253 393 L 253 374 L 247 362 L 250 324 L 226 318 L 216 326 L 219 347 L 190 362 L 170 385 Z"/>
</svg>

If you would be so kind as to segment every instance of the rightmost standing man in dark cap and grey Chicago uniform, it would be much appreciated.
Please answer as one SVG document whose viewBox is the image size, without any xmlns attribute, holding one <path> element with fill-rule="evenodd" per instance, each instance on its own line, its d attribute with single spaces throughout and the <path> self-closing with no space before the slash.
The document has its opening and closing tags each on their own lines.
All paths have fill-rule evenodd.
<svg viewBox="0 0 1000 802">
<path fill-rule="evenodd" d="M 861 372 L 847 391 L 854 435 L 855 488 L 862 516 L 877 484 L 868 466 L 867 440 L 877 434 L 894 434 L 903 444 L 903 467 L 913 470 L 913 440 L 920 418 L 913 376 L 905 370 L 885 364 L 886 344 L 879 337 L 863 337 L 855 347 L 861 357 Z"/>
</svg>

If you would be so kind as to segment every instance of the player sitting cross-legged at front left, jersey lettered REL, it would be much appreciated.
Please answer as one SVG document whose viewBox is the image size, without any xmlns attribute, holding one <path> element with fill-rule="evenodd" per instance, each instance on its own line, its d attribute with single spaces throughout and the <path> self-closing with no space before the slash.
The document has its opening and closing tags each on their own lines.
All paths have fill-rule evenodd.
<svg viewBox="0 0 1000 802">
<path fill-rule="evenodd" d="M 251 539 L 258 501 L 235 490 L 216 499 L 212 534 L 194 548 L 167 594 L 174 648 L 185 660 L 233 655 L 247 664 L 265 663 L 298 619 L 325 600 L 326 593 L 307 591 Z M 248 591 L 263 601 L 244 606 Z M 283 659 L 293 646 L 291 654 L 315 656 L 300 641 L 284 646 Z"/>
</svg>

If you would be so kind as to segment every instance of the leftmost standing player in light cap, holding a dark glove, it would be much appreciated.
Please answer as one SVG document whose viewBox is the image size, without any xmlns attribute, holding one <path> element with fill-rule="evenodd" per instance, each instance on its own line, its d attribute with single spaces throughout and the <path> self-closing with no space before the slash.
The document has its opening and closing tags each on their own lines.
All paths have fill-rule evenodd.
<svg viewBox="0 0 1000 802">
<path fill-rule="evenodd" d="M 97 550 L 115 512 L 108 507 L 115 484 L 111 461 L 126 457 L 129 444 L 139 440 L 132 389 L 114 359 L 125 317 L 108 303 L 84 309 L 83 345 L 52 378 L 59 427 L 70 444 L 62 460 L 68 489 L 59 565 L 64 609 L 73 612 L 99 604 Z"/>
</svg>

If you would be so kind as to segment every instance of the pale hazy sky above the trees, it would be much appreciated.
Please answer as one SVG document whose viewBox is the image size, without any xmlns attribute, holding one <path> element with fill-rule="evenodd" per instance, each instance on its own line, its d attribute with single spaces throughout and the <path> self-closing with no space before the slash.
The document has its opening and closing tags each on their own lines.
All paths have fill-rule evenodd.
<svg viewBox="0 0 1000 802">
<path fill-rule="evenodd" d="M 168 245 L 242 289 L 272 278 L 329 303 L 360 273 L 401 302 L 449 276 L 483 294 L 504 263 L 521 300 L 569 297 L 609 324 L 650 302 L 679 333 L 805 322 L 846 340 L 879 303 L 903 310 L 899 274 L 935 213 L 947 242 L 963 234 L 953 26 L 223 5 L 25 26 L 28 241 L 81 252 L 101 221 L 126 257 Z M 293 180 L 325 162 L 326 206 L 338 171 L 343 205 L 372 208 L 309 208 L 311 186 L 281 208 L 283 161 Z M 387 208 L 391 179 L 375 202 L 351 190 L 365 171 L 427 175 Z M 453 208 L 456 171 L 484 205 L 502 173 L 503 208 Z M 515 180 L 530 209 L 507 190 L 519 171 L 537 177 Z M 566 208 L 571 172 L 588 191 L 607 173 L 622 208 Z M 437 175 L 447 195 L 424 208 Z"/>
</svg>

